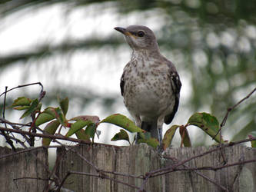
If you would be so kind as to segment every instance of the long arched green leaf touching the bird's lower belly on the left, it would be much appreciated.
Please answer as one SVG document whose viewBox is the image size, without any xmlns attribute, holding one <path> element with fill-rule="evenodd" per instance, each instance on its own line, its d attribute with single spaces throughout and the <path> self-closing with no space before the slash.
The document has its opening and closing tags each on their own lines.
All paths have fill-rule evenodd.
<svg viewBox="0 0 256 192">
<path fill-rule="evenodd" d="M 137 127 L 133 121 L 126 118 L 125 115 L 122 114 L 112 114 L 108 116 L 108 118 L 102 120 L 100 123 L 115 124 L 127 131 L 130 131 L 131 133 L 144 132 L 140 127 Z"/>
</svg>

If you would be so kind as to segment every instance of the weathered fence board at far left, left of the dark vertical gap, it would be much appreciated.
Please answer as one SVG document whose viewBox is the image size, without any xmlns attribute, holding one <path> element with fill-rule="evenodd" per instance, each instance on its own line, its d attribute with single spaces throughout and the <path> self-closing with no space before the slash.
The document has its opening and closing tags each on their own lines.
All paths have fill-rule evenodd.
<svg viewBox="0 0 256 192">
<path fill-rule="evenodd" d="M 0 147 L 0 157 L 11 153 L 8 147 Z M 48 185 L 47 170 L 48 152 L 44 148 L 3 157 L 0 159 L 1 191 L 44 191 Z"/>
</svg>

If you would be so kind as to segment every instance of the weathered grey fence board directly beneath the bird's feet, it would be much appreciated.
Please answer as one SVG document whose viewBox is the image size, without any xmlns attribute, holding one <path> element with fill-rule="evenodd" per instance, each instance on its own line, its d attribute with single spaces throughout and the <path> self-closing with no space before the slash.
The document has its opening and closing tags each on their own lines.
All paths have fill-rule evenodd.
<svg viewBox="0 0 256 192">
<path fill-rule="evenodd" d="M 131 147 L 121 147 L 116 153 L 115 171 L 119 173 L 141 175 L 160 167 L 158 152 L 147 144 L 134 145 Z M 125 181 L 125 183 L 141 187 L 143 180 L 132 177 L 116 176 L 115 179 Z M 161 191 L 161 177 L 150 178 L 145 184 L 147 191 Z M 137 191 L 124 184 L 115 184 L 114 191 Z"/>
</svg>

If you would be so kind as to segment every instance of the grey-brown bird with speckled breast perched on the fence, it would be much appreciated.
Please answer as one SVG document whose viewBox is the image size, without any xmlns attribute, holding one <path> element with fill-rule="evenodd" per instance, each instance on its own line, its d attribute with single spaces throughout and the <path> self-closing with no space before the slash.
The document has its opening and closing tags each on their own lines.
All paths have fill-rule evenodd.
<svg viewBox="0 0 256 192">
<path fill-rule="evenodd" d="M 121 75 L 120 88 L 125 107 L 135 125 L 150 132 L 160 145 L 162 127 L 170 124 L 178 111 L 181 80 L 175 65 L 161 55 L 150 28 L 130 25 L 115 27 L 132 49 L 131 60 Z M 137 135 L 136 143 L 139 136 Z"/>
</svg>

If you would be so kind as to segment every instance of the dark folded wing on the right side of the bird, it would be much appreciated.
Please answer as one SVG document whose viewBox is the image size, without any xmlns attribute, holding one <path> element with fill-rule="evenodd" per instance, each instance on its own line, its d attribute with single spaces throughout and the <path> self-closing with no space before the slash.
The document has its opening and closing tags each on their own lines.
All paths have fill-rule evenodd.
<svg viewBox="0 0 256 192">
<path fill-rule="evenodd" d="M 175 94 L 175 106 L 170 114 L 165 116 L 165 124 L 170 124 L 172 119 L 175 117 L 176 112 L 178 111 L 178 104 L 180 100 L 180 91 L 181 91 L 181 80 L 176 71 L 175 65 L 168 61 L 168 68 L 170 73 L 171 89 Z"/>
</svg>

